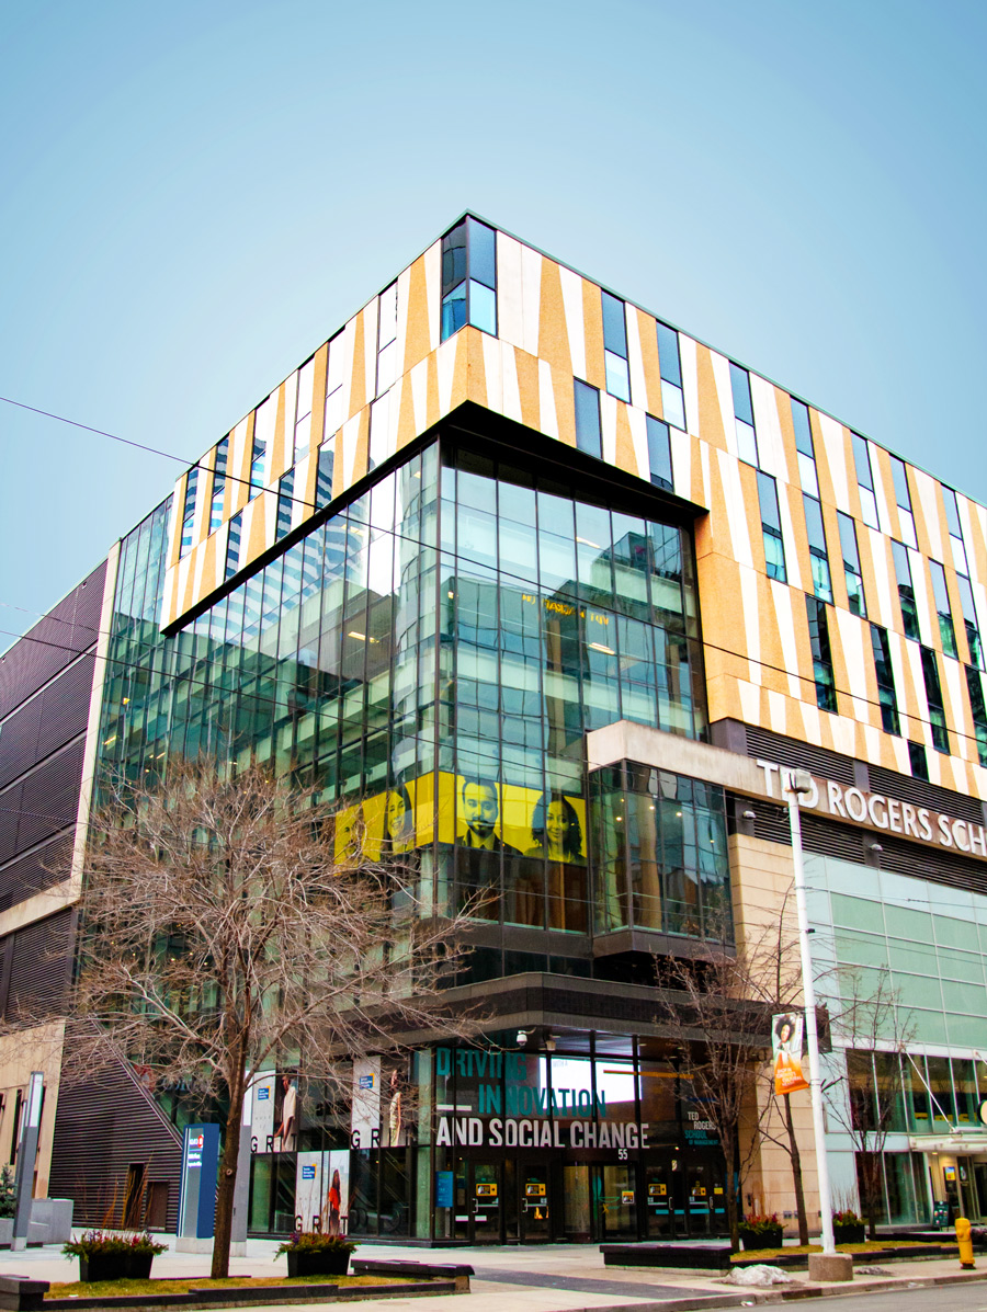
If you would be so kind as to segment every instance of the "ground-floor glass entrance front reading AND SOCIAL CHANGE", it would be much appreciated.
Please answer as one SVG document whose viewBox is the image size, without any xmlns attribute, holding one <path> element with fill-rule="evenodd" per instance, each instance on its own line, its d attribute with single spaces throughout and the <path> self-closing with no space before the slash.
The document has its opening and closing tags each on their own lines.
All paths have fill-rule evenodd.
<svg viewBox="0 0 987 1312">
<path fill-rule="evenodd" d="M 571 1033 L 528 1051 L 368 1059 L 354 1064 L 346 1134 L 291 1076 L 272 1072 L 255 1098 L 255 1235 L 538 1244 L 727 1229 L 718 1139 L 688 1064 L 659 1042 Z M 282 1148 L 286 1105 L 295 1131 Z"/>
</svg>

